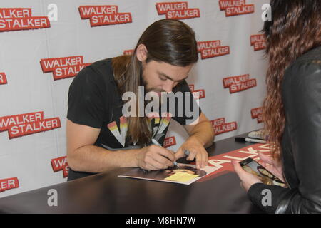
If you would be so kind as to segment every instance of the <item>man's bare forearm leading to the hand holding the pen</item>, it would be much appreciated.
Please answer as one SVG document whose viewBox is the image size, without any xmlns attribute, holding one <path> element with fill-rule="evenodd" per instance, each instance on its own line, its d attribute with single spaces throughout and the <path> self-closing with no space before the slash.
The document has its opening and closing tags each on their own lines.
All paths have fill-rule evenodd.
<svg viewBox="0 0 321 228">
<path fill-rule="evenodd" d="M 118 167 L 137 167 L 138 149 L 106 150 L 86 145 L 68 153 L 68 165 L 75 171 L 104 172 Z"/>
</svg>

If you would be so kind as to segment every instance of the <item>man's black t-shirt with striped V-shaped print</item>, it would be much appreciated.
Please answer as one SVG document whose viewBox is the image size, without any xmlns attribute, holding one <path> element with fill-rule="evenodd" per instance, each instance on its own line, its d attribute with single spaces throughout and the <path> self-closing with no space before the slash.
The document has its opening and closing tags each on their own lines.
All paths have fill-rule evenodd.
<svg viewBox="0 0 321 228">
<path fill-rule="evenodd" d="M 179 83 L 177 89 L 180 92 L 190 93 L 186 81 Z M 185 96 L 183 96 L 185 105 Z M 87 125 L 92 128 L 100 128 L 101 132 L 94 145 L 106 148 L 107 150 L 123 150 L 138 148 L 139 145 L 128 143 L 127 121 L 123 116 L 123 101 L 118 93 L 116 81 L 113 77 L 111 59 L 97 61 L 83 68 L 78 75 L 73 78 L 68 93 L 68 113 L 67 118 L 73 123 Z M 188 100 L 186 100 L 188 102 Z M 189 105 L 193 110 L 196 101 L 193 95 L 190 96 Z M 181 105 L 181 104 L 180 104 Z M 175 110 L 178 110 L 178 102 L 175 100 Z M 198 106 L 197 106 L 198 107 Z M 201 110 L 198 108 L 198 115 Z M 175 113 L 173 119 L 180 125 L 187 125 L 192 122 L 195 116 L 183 113 L 183 117 L 178 117 Z M 188 116 L 190 118 L 188 118 Z M 165 135 L 168 131 L 170 117 L 151 118 L 151 129 L 153 138 L 163 145 Z M 188 122 L 189 121 L 189 122 Z M 69 169 L 68 180 L 79 177 L 86 177 L 92 173 L 76 172 Z"/>
</svg>

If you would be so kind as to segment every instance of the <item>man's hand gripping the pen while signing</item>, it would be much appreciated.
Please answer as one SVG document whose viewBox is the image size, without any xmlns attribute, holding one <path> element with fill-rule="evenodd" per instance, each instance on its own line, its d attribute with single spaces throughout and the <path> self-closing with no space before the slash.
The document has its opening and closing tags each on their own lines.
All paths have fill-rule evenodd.
<svg viewBox="0 0 321 228">
<path fill-rule="evenodd" d="M 174 152 L 158 145 L 143 147 L 138 152 L 138 167 L 143 170 L 165 170 L 173 166 L 175 162 Z"/>
</svg>

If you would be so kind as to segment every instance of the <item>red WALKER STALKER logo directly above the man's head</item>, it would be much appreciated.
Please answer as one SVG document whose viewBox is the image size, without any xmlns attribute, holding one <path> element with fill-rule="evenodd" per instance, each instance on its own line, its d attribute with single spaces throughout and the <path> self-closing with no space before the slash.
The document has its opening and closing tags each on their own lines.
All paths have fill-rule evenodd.
<svg viewBox="0 0 321 228">
<path fill-rule="evenodd" d="M 187 1 L 156 3 L 158 15 L 166 15 L 166 19 L 193 19 L 200 17 L 200 9 L 188 9 Z"/>
</svg>

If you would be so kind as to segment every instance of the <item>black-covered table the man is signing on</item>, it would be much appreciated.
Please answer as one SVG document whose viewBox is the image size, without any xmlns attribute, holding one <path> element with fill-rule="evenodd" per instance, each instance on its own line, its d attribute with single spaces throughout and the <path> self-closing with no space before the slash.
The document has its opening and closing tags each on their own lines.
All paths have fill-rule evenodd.
<svg viewBox="0 0 321 228">
<path fill-rule="evenodd" d="M 213 156 L 248 145 L 251 143 L 228 138 L 207 150 Z M 117 169 L 1 198 L 0 213 L 262 213 L 248 200 L 235 173 L 179 185 L 117 177 L 128 170 Z M 57 207 L 48 205 L 50 189 L 58 192 Z"/>
</svg>

